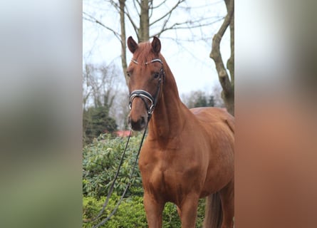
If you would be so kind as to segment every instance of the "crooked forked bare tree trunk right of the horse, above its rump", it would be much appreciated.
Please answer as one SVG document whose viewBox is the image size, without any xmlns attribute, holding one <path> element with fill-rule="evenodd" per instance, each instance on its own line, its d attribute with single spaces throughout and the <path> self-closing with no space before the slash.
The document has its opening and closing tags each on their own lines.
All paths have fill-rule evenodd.
<svg viewBox="0 0 317 228">
<path fill-rule="evenodd" d="M 216 65 L 219 82 L 222 86 L 222 99 L 224 100 L 224 104 L 228 112 L 234 115 L 234 0 L 224 0 L 224 2 L 227 6 L 227 16 L 224 18 L 219 31 L 214 35 L 214 38 L 212 38 L 210 58 L 214 60 Z M 230 28 L 231 56 L 227 61 L 226 69 L 220 52 L 220 42 L 228 26 Z"/>
</svg>

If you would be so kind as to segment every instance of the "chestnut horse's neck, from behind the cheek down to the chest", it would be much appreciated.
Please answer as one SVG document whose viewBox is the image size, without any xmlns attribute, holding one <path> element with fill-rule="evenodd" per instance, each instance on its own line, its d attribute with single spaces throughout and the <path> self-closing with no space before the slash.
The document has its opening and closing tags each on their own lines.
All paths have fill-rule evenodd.
<svg viewBox="0 0 317 228">
<path fill-rule="evenodd" d="M 173 138 L 180 133 L 184 125 L 185 106 L 180 100 L 175 78 L 165 62 L 165 83 L 162 84 L 162 95 L 149 123 L 149 135 L 152 138 Z"/>
</svg>

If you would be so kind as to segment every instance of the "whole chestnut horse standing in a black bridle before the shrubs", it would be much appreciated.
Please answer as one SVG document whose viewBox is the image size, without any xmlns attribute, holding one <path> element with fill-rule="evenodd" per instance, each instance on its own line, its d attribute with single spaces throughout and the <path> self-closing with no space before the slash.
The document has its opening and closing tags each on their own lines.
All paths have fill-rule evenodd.
<svg viewBox="0 0 317 228">
<path fill-rule="evenodd" d="M 233 227 L 234 118 L 181 102 L 159 38 L 138 44 L 130 36 L 128 48 L 129 123 L 149 128 L 139 160 L 148 226 L 162 227 L 165 203 L 173 202 L 182 227 L 195 227 L 198 200 L 207 197 L 204 227 Z"/>
</svg>

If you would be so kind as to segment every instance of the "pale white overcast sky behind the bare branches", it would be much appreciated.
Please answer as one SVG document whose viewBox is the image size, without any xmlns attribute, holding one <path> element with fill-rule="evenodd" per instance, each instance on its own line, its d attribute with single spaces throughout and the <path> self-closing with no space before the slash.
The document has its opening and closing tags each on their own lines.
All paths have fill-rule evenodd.
<svg viewBox="0 0 317 228">
<path fill-rule="evenodd" d="M 164 14 L 175 4 L 176 1 L 167 1 L 170 5 L 164 5 L 153 13 L 153 19 Z M 158 3 L 158 2 L 157 2 Z M 156 4 L 156 1 L 155 1 Z M 128 5 L 129 6 L 129 5 Z M 226 15 L 226 6 L 224 1 L 186 1 L 181 4 L 182 9 L 175 11 L 170 18 L 170 23 L 185 21 L 186 19 L 199 19 L 200 16 L 212 17 L 212 21 L 219 21 Z M 130 11 L 133 12 L 133 6 L 130 5 Z M 113 6 L 105 1 L 83 1 L 83 11 L 100 19 L 106 26 L 120 32 L 120 18 Z M 151 22 L 151 21 L 150 21 Z M 172 73 L 175 76 L 180 94 L 189 93 L 192 90 L 205 90 L 211 92 L 214 86 L 219 85 L 217 71 L 214 62 L 209 58 L 211 51 L 212 36 L 217 33 L 222 20 L 212 25 L 197 28 L 192 31 L 187 29 L 177 31 L 166 31 L 162 33 L 160 40 L 162 43 L 161 53 L 169 64 Z M 126 35 L 135 36 L 132 28 L 126 24 Z M 150 30 L 150 35 L 155 33 L 155 28 Z M 188 39 L 207 37 L 205 41 L 186 41 Z M 173 39 L 177 39 L 177 44 Z M 225 33 L 222 39 L 222 57 L 224 63 L 230 55 L 229 50 L 229 32 Z M 90 21 L 83 20 L 83 63 L 115 63 L 120 71 L 120 42 L 112 32 L 93 24 Z M 132 55 L 128 53 L 128 61 Z M 123 78 L 123 77 L 122 77 Z"/>
</svg>

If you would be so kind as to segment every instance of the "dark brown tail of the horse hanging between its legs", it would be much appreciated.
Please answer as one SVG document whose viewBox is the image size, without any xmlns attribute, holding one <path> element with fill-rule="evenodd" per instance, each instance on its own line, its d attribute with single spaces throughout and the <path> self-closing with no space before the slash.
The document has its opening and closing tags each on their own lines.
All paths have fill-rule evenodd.
<svg viewBox="0 0 317 228">
<path fill-rule="evenodd" d="M 204 211 L 204 228 L 220 228 L 222 226 L 222 202 L 219 192 L 209 195 Z"/>
</svg>

